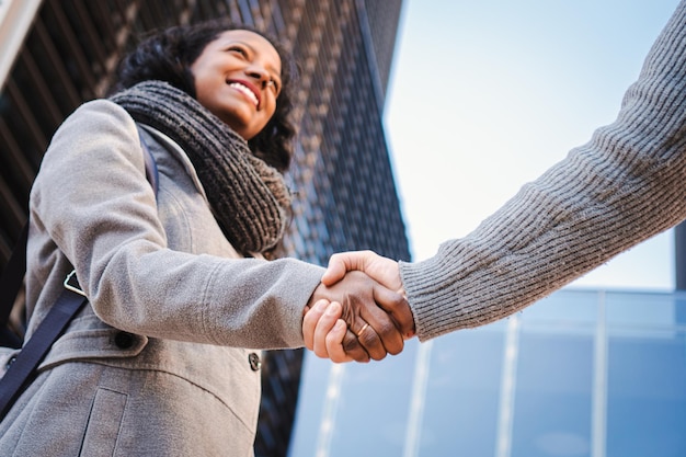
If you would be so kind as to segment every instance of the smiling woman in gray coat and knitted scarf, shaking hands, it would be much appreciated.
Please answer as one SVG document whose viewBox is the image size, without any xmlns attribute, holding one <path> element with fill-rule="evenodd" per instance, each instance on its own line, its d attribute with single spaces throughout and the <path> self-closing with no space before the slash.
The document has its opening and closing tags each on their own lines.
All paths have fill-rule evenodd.
<svg viewBox="0 0 686 457">
<path fill-rule="evenodd" d="M 252 455 L 251 347 L 301 346 L 316 304 L 344 305 L 358 359 L 400 352 L 374 301 L 400 308 L 401 296 L 364 274 L 329 288 L 318 266 L 261 259 L 289 212 L 291 68 L 247 27 L 174 27 L 123 60 L 116 93 L 60 126 L 31 193 L 27 336 L 72 269 L 89 306 L 0 424 L 0 455 Z"/>
</svg>

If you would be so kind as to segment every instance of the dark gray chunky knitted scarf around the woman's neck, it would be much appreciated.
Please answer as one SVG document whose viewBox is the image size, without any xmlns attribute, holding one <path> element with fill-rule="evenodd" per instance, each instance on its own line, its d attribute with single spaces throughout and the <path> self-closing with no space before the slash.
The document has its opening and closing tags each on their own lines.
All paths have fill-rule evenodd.
<svg viewBox="0 0 686 457">
<path fill-rule="evenodd" d="M 217 222 L 239 252 L 264 252 L 278 242 L 290 208 L 288 187 L 276 169 L 252 155 L 242 137 L 165 82 L 141 82 L 111 100 L 187 153 Z"/>
</svg>

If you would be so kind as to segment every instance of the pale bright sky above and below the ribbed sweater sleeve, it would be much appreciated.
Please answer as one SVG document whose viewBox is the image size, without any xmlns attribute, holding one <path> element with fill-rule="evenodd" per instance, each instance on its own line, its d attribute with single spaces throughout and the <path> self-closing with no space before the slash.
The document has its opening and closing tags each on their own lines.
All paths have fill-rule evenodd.
<svg viewBox="0 0 686 457">
<path fill-rule="evenodd" d="M 595 128 L 677 0 L 404 0 L 386 105 L 414 260 L 459 238 Z M 574 283 L 672 289 L 673 232 Z"/>
</svg>

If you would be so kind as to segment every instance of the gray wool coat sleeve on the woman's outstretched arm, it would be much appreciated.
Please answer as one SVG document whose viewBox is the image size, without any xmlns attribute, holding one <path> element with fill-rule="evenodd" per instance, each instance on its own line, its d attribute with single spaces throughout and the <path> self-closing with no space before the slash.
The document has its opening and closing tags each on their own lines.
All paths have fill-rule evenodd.
<svg viewBox="0 0 686 457">
<path fill-rule="evenodd" d="M 323 269 L 172 250 L 130 116 L 89 102 L 58 129 L 31 196 L 36 231 L 77 271 L 94 312 L 133 333 L 237 347 L 302 345 Z"/>
</svg>

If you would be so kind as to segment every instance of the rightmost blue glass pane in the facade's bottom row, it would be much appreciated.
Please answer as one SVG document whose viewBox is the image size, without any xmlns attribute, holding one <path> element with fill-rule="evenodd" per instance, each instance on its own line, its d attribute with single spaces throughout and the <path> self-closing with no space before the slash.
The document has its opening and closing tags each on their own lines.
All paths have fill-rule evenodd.
<svg viewBox="0 0 686 457">
<path fill-rule="evenodd" d="M 607 456 L 685 456 L 685 332 L 619 333 L 608 354 Z"/>
</svg>

